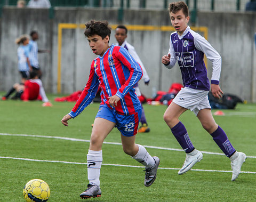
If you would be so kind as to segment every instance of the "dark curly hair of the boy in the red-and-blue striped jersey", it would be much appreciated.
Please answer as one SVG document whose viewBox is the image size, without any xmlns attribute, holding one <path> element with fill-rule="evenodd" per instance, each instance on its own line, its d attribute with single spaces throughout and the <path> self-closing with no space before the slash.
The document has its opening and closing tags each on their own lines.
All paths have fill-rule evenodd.
<svg viewBox="0 0 256 202">
<path fill-rule="evenodd" d="M 94 21 L 91 20 L 85 24 L 84 35 L 86 37 L 99 35 L 102 39 L 109 36 L 110 38 L 111 28 L 108 26 L 107 21 Z"/>
</svg>

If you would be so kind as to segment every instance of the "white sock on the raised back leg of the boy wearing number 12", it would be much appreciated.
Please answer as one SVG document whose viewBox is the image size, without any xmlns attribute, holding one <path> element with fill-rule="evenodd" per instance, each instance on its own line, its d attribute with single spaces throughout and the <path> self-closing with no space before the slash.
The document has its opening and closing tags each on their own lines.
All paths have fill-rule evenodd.
<svg viewBox="0 0 256 202">
<path fill-rule="evenodd" d="M 146 168 L 153 167 L 156 163 L 153 157 L 149 155 L 145 147 L 141 146 L 140 144 L 137 144 L 139 147 L 139 151 L 137 155 L 132 156 L 135 160 L 137 160 L 139 163 L 144 165 Z"/>
</svg>

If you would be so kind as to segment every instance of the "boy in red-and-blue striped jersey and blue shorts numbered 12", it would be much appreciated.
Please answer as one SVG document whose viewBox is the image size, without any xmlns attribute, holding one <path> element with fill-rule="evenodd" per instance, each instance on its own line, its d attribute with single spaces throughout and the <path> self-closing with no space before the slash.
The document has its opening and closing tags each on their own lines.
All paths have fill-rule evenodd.
<svg viewBox="0 0 256 202">
<path fill-rule="evenodd" d="M 91 103 L 100 84 L 101 104 L 94 120 L 87 154 L 89 184 L 80 195 L 83 199 L 101 196 L 101 148 L 114 127 L 121 132 L 124 152 L 146 167 L 146 187 L 155 181 L 159 165 L 158 157 L 151 157 L 145 147 L 135 144 L 141 106 L 133 86 L 142 77 L 142 70 L 126 49 L 109 46 L 110 33 L 108 22 L 91 20 L 86 23 L 84 34 L 93 53 L 99 56 L 92 61 L 89 80 L 75 107 L 61 120 L 63 125 L 68 126 L 68 120 L 75 118 Z"/>
</svg>

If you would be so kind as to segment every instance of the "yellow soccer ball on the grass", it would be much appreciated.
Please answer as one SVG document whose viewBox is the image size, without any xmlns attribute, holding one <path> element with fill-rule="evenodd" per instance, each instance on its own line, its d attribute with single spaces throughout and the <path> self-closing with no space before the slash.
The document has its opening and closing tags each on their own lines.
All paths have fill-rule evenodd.
<svg viewBox="0 0 256 202">
<path fill-rule="evenodd" d="M 30 180 L 23 189 L 23 196 L 27 202 L 45 202 L 50 198 L 49 185 L 39 179 Z"/>
</svg>

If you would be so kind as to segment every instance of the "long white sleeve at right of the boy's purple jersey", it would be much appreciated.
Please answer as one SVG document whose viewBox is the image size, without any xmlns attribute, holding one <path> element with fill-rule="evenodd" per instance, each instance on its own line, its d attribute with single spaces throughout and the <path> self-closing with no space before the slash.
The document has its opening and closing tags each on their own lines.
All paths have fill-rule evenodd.
<svg viewBox="0 0 256 202">
<path fill-rule="evenodd" d="M 202 51 L 206 58 L 211 60 L 212 62 L 212 81 L 220 80 L 220 72 L 221 72 L 221 56 L 220 54 L 213 49 L 211 44 L 206 41 L 204 37 L 199 34 L 194 36 L 194 44 L 197 50 Z M 213 83 L 213 82 L 212 82 Z M 214 83 L 214 84 L 217 84 Z"/>
</svg>

